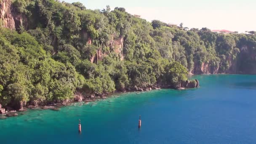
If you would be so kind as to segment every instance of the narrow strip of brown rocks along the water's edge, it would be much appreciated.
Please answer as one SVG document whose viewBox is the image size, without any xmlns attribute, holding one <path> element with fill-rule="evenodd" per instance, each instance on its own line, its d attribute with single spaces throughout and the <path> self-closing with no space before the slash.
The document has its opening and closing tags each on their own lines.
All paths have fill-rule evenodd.
<svg viewBox="0 0 256 144">
<path fill-rule="evenodd" d="M 199 81 L 198 80 L 186 80 L 175 87 L 176 90 L 184 90 L 186 88 L 198 88 Z M 143 91 L 152 91 L 152 90 L 160 90 L 160 89 L 171 89 L 171 85 L 149 85 L 146 88 L 140 88 L 136 85 L 133 88 L 124 89 L 123 91 L 115 91 L 114 93 L 126 93 L 126 92 L 143 92 Z M 114 93 L 103 93 L 103 94 L 91 94 L 90 96 L 83 96 L 81 93 L 75 93 L 75 98 L 72 101 L 56 101 L 45 105 L 29 105 L 27 107 L 22 107 L 19 110 L 15 110 L 11 107 L 3 108 L 0 104 L 0 119 L 5 119 L 7 117 L 16 117 L 18 116 L 18 112 L 25 112 L 27 109 L 35 109 L 35 110 L 45 110 L 51 109 L 54 111 L 59 111 L 61 107 L 69 106 L 75 102 L 91 102 L 96 101 L 97 99 L 106 99 L 107 96 L 112 95 Z"/>
</svg>

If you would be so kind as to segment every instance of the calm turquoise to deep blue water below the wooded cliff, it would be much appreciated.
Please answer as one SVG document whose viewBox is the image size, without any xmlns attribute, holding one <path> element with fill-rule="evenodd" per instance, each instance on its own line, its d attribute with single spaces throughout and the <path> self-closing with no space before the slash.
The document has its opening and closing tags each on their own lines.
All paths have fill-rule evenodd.
<svg viewBox="0 0 256 144">
<path fill-rule="evenodd" d="M 200 88 L 116 94 L 60 111 L 29 110 L 0 120 L 0 144 L 255 143 L 256 75 L 193 78 Z"/>
</svg>

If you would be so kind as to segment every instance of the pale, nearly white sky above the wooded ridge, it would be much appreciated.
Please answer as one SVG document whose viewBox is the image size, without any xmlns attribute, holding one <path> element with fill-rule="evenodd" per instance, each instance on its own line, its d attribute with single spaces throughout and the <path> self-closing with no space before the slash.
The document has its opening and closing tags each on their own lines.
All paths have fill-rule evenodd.
<svg viewBox="0 0 256 144">
<path fill-rule="evenodd" d="M 87 9 L 113 10 L 123 7 L 128 13 L 141 15 L 183 27 L 256 31 L 256 0 L 65 0 L 80 2 Z"/>
</svg>

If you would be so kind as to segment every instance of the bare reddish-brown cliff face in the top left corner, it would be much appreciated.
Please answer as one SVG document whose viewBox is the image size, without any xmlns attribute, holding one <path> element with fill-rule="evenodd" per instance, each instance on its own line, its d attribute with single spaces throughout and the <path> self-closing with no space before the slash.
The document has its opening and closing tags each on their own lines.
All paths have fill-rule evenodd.
<svg viewBox="0 0 256 144">
<path fill-rule="evenodd" d="M 18 30 L 26 18 L 18 14 L 11 3 L 11 0 L 0 0 L 0 20 L 3 27 Z"/>
</svg>

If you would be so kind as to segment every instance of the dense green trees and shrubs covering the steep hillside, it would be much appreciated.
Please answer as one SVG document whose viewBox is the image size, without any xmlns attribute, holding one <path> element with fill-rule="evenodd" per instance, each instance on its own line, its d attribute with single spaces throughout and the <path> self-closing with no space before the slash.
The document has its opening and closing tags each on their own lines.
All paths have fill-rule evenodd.
<svg viewBox="0 0 256 144">
<path fill-rule="evenodd" d="M 87 10 L 81 3 L 14 0 L 25 16 L 16 31 L 0 29 L 0 103 L 21 107 L 149 85 L 177 87 L 203 63 L 228 72 L 255 35 L 219 35 L 147 22 L 125 12 Z M 240 59 L 245 56 L 239 55 Z M 237 67 L 255 67 L 248 57 Z M 253 66 L 252 66 L 253 65 Z M 238 69 L 238 68 L 237 68 Z M 200 72 L 199 72 L 200 73 Z"/>
</svg>

